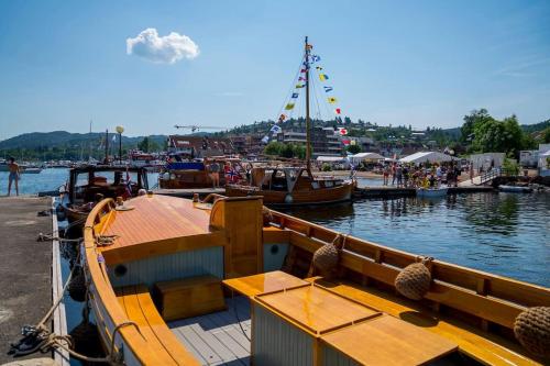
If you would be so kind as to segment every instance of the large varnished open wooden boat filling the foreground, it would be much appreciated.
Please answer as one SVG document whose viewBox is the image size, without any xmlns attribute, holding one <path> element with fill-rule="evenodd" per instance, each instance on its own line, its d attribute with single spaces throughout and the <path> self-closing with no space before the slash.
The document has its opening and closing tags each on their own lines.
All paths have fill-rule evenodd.
<svg viewBox="0 0 550 366">
<path fill-rule="evenodd" d="M 550 306 L 546 287 L 435 259 L 414 301 L 395 282 L 416 255 L 263 215 L 261 197 L 124 206 L 94 208 L 82 252 L 99 334 L 125 365 L 546 362 L 513 335 L 518 314 Z M 338 267 L 311 274 L 314 253 L 338 241 Z"/>
</svg>

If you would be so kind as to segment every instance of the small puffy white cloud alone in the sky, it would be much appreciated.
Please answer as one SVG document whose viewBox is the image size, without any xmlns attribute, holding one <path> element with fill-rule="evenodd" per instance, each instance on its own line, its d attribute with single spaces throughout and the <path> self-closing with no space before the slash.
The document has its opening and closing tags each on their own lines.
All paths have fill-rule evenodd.
<svg viewBox="0 0 550 366">
<path fill-rule="evenodd" d="M 127 54 L 136 55 L 157 64 L 175 64 L 182 58 L 199 55 L 199 46 L 185 34 L 172 32 L 158 36 L 154 27 L 147 27 L 134 38 L 127 38 Z"/>
</svg>

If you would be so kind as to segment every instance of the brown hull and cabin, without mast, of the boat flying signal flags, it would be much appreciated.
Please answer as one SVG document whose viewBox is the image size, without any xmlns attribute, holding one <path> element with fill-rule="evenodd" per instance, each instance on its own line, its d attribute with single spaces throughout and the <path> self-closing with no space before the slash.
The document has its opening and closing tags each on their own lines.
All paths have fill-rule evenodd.
<svg viewBox="0 0 550 366">
<path fill-rule="evenodd" d="M 270 206 L 324 204 L 351 200 L 354 184 L 316 178 L 301 167 L 257 167 L 250 185 L 226 185 L 228 197 L 262 196 Z"/>
</svg>

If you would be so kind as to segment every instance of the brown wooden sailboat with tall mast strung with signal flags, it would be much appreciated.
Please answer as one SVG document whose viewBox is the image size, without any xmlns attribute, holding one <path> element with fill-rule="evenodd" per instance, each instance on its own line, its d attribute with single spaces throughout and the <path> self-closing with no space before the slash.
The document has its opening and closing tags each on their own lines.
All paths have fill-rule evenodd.
<svg viewBox="0 0 550 366">
<path fill-rule="evenodd" d="M 306 167 L 280 165 L 254 167 L 248 185 L 226 185 L 226 196 L 261 196 L 264 203 L 271 206 L 324 204 L 351 200 L 354 181 L 319 178 L 311 173 L 310 60 L 312 56 L 308 37 L 305 41 L 304 52 L 304 77 L 300 77 L 304 85 L 300 87 L 306 89 Z"/>
</svg>

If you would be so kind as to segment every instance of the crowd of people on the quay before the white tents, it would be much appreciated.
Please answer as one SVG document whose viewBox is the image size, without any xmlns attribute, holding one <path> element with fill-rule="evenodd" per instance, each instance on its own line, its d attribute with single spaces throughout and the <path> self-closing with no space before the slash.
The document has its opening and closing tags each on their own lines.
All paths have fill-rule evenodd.
<svg viewBox="0 0 550 366">
<path fill-rule="evenodd" d="M 382 168 L 384 177 L 384 186 L 392 186 L 404 188 L 436 188 L 441 184 L 447 184 L 449 187 L 457 187 L 461 169 L 455 164 L 439 165 L 433 164 L 430 167 L 420 164 L 406 165 L 406 164 L 387 164 Z"/>
</svg>

